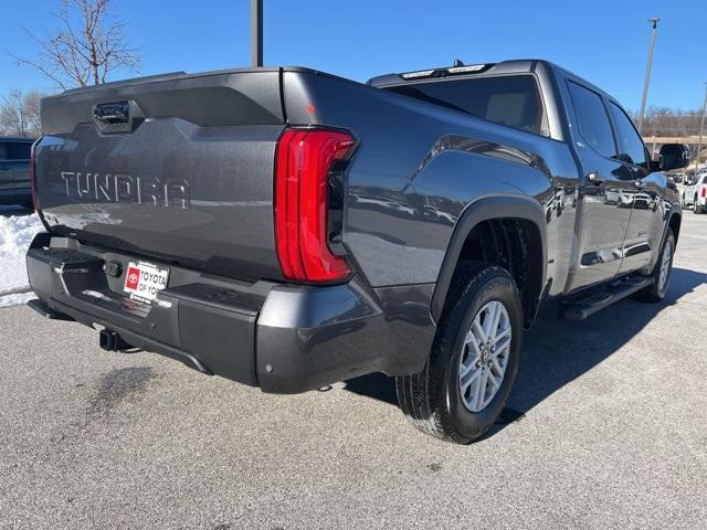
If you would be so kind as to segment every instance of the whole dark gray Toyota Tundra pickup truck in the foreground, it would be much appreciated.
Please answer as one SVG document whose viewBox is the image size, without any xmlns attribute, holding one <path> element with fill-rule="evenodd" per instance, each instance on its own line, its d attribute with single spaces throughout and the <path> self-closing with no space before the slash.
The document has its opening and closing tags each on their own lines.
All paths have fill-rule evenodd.
<svg viewBox="0 0 707 530">
<path fill-rule="evenodd" d="M 42 124 L 38 311 L 265 392 L 383 372 L 456 443 L 500 413 L 540 304 L 665 296 L 662 171 L 688 162 L 535 60 L 176 73 L 48 97 Z"/>
</svg>

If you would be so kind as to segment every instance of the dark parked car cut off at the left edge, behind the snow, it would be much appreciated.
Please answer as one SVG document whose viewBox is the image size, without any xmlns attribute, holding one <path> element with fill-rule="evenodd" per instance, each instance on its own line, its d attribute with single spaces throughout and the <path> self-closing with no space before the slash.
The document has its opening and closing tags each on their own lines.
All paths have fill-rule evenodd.
<svg viewBox="0 0 707 530">
<path fill-rule="evenodd" d="M 0 137 L 0 204 L 32 208 L 30 152 L 32 138 Z"/>
</svg>

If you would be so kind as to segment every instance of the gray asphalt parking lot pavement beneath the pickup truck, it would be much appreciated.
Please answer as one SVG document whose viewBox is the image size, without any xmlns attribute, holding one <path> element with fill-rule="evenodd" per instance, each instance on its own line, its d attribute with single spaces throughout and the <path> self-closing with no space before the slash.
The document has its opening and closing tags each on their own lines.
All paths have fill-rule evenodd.
<svg viewBox="0 0 707 530">
<path fill-rule="evenodd" d="M 467 447 L 384 377 L 265 395 L 0 309 L 0 528 L 707 528 L 706 284 L 687 211 L 668 298 L 547 308 Z"/>
</svg>

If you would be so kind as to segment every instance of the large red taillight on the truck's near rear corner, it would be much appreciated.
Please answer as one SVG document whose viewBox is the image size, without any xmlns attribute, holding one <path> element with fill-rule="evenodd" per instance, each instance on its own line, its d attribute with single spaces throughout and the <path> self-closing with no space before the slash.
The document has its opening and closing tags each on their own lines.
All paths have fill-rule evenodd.
<svg viewBox="0 0 707 530">
<path fill-rule="evenodd" d="M 329 248 L 328 176 L 354 138 L 336 130 L 285 129 L 277 141 L 275 243 L 283 275 L 300 282 L 336 282 L 351 271 Z"/>
</svg>

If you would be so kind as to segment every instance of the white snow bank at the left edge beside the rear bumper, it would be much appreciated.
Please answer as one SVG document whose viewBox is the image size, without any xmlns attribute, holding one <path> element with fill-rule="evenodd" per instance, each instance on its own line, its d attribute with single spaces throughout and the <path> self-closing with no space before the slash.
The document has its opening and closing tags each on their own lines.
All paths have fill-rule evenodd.
<svg viewBox="0 0 707 530">
<path fill-rule="evenodd" d="M 35 214 L 0 215 L 0 306 L 25 301 L 15 296 L 30 288 L 24 254 L 34 234 L 42 230 L 42 223 Z M 14 301 L 7 301 L 6 298 Z"/>
</svg>

